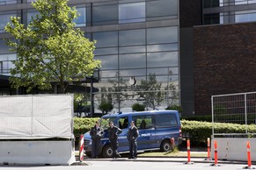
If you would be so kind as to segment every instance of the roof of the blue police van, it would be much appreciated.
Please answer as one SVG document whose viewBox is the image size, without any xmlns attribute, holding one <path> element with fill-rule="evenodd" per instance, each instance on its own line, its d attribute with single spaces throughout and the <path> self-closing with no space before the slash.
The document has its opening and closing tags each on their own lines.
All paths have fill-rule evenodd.
<svg viewBox="0 0 256 170">
<path fill-rule="evenodd" d="M 158 114 L 158 113 L 175 113 L 179 114 L 177 110 L 150 110 L 150 111 L 135 111 L 135 112 L 121 112 L 104 115 L 103 117 L 119 117 L 123 115 L 144 115 L 144 114 Z"/>
</svg>

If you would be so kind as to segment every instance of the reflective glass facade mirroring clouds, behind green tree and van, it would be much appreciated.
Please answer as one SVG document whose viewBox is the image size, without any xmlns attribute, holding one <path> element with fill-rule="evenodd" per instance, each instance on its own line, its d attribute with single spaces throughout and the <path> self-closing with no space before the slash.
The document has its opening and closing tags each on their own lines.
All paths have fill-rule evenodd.
<svg viewBox="0 0 256 170">
<path fill-rule="evenodd" d="M 24 1 L 31 2 L 33 0 Z M 72 4 L 79 13 L 74 22 L 87 31 L 85 37 L 97 41 L 95 59 L 102 61 L 99 83 L 94 83 L 99 89 L 94 94 L 96 112 L 104 98 L 113 103 L 114 111 L 126 111 L 131 110 L 133 103 L 147 102 L 149 93 L 159 97 L 160 92 L 161 97 L 156 107 L 147 105 L 148 110 L 165 109 L 168 103 L 179 103 L 178 2 L 110 0 Z M 22 12 L 24 24 L 38 14 L 33 9 L 18 12 Z M 3 29 L 13 15 L 17 16 L 17 12 L 0 13 Z M 0 49 L 0 74 L 8 73 L 13 67 L 10 61 L 16 58 L 16 54 L 7 51 L 3 46 Z M 143 88 L 143 83 L 152 76 L 155 76 L 155 87 Z M 135 79 L 135 84 L 131 84 L 131 78 Z M 176 98 L 169 95 L 171 85 L 174 87 L 171 90 L 178 94 Z"/>
</svg>

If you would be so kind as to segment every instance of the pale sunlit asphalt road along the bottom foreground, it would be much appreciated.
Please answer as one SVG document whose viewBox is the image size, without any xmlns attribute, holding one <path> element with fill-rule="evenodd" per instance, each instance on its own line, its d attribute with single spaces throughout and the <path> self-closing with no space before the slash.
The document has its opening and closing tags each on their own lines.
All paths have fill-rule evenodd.
<svg viewBox="0 0 256 170">
<path fill-rule="evenodd" d="M 0 166 L 0 170 L 237 170 L 243 169 L 246 165 L 223 164 L 221 166 L 210 166 L 209 163 L 194 163 L 186 165 L 182 162 L 150 162 L 150 161 L 97 161 L 85 160 L 84 165 L 77 166 Z M 85 165 L 86 164 L 86 165 Z M 253 166 L 252 166 L 253 167 Z M 255 166 L 256 167 L 256 166 Z"/>
</svg>

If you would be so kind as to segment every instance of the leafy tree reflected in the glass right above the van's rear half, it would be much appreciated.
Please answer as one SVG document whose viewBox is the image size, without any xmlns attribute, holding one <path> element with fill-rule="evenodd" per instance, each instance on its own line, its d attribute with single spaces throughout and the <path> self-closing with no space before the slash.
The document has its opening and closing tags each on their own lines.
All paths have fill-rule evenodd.
<svg viewBox="0 0 256 170">
<path fill-rule="evenodd" d="M 155 74 L 150 74 L 149 80 L 142 80 L 138 92 L 138 95 L 143 98 L 144 105 L 156 109 L 160 106 L 160 103 L 164 101 L 163 94 L 161 92 L 162 84 L 157 82 Z"/>
</svg>

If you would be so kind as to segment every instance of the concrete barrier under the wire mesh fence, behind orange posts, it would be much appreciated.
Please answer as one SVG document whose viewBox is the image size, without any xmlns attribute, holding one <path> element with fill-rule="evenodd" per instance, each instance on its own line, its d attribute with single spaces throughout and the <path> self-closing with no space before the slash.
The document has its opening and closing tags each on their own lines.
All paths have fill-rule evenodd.
<svg viewBox="0 0 256 170">
<path fill-rule="evenodd" d="M 214 141 L 217 141 L 219 160 L 247 161 L 246 142 L 251 142 L 252 161 L 256 161 L 256 138 L 212 138 L 211 158 L 214 159 Z"/>
</svg>

